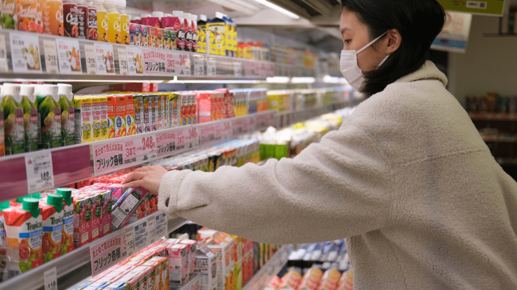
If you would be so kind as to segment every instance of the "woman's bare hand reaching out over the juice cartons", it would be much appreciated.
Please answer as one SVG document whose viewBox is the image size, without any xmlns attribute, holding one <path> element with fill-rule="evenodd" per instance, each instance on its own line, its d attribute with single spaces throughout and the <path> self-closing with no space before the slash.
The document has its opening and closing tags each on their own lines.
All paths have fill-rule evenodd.
<svg viewBox="0 0 517 290">
<path fill-rule="evenodd" d="M 143 187 L 149 190 L 149 194 L 158 195 L 160 180 L 167 172 L 161 165 L 144 166 L 129 174 L 122 182 L 122 187 Z"/>
</svg>

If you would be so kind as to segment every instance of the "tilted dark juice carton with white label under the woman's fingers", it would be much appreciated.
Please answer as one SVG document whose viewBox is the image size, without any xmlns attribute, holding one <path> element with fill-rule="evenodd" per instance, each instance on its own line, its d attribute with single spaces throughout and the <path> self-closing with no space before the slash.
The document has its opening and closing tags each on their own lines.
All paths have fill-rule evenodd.
<svg viewBox="0 0 517 290">
<path fill-rule="evenodd" d="M 117 229 L 126 222 L 146 200 L 149 191 L 145 188 L 128 188 L 113 205 L 112 227 Z"/>
</svg>

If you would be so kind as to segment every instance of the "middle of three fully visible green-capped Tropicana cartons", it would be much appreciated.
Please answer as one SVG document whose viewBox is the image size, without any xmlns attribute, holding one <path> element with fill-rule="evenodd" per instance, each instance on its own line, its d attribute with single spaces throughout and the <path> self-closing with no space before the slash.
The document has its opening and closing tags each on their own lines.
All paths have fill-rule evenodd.
<svg viewBox="0 0 517 290">
<path fill-rule="evenodd" d="M 50 194 L 41 200 L 41 220 L 43 222 L 43 263 L 61 255 L 63 239 L 63 196 Z"/>
</svg>

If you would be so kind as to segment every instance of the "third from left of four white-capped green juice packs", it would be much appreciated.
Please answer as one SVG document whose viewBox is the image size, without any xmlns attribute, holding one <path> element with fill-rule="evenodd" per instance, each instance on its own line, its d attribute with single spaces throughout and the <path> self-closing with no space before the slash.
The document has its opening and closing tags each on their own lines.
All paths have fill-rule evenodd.
<svg viewBox="0 0 517 290">
<path fill-rule="evenodd" d="M 38 96 L 39 142 L 41 149 L 60 147 L 61 108 L 56 85 L 40 85 L 36 87 Z"/>
</svg>

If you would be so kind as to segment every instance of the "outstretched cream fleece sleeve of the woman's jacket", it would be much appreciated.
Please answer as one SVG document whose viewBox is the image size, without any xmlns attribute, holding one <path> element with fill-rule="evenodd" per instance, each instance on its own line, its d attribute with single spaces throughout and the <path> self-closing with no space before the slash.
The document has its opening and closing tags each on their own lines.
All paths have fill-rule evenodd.
<svg viewBox="0 0 517 290">
<path fill-rule="evenodd" d="M 313 243 L 386 227 L 391 180 L 378 143 L 343 124 L 292 159 L 166 173 L 158 204 L 171 216 L 255 241 Z"/>
</svg>

